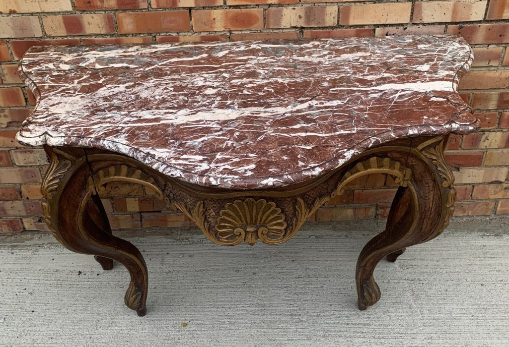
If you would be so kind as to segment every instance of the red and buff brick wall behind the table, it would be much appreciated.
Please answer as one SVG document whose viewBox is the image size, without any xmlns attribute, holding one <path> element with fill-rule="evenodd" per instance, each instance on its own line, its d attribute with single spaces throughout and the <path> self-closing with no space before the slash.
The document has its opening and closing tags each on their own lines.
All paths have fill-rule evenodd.
<svg viewBox="0 0 509 347">
<path fill-rule="evenodd" d="M 16 72 L 30 46 L 443 33 L 462 35 L 473 47 L 460 91 L 482 123 L 479 132 L 448 143 L 455 214 L 509 214 L 507 0 L 1 0 L 0 233 L 47 230 L 39 192 L 46 157 L 14 140 L 35 103 Z M 395 187 L 390 177 L 366 176 L 313 219 L 384 218 Z M 190 224 L 143 187 L 111 184 L 106 191 L 113 228 Z"/>
</svg>

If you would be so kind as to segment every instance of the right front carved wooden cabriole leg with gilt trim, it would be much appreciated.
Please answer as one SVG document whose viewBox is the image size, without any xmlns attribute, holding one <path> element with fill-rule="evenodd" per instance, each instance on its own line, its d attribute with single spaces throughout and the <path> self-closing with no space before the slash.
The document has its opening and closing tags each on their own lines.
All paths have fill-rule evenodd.
<svg viewBox="0 0 509 347">
<path fill-rule="evenodd" d="M 364 246 L 357 261 L 359 309 L 380 299 L 373 272 L 381 259 L 395 260 L 405 247 L 431 240 L 448 225 L 456 191 L 452 185 L 454 176 L 443 159 L 443 145 L 443 138 L 436 138 L 412 149 L 411 154 L 408 150 L 385 153 L 392 160 L 405 163 L 411 175 L 400 182 L 385 231 Z"/>
</svg>

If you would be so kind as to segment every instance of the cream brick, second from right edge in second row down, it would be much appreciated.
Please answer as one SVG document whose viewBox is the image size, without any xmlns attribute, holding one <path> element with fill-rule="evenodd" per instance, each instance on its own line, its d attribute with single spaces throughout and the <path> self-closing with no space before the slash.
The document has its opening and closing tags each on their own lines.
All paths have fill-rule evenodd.
<svg viewBox="0 0 509 347">
<path fill-rule="evenodd" d="M 414 23 L 483 20 L 487 1 L 426 1 L 414 5 Z"/>
</svg>

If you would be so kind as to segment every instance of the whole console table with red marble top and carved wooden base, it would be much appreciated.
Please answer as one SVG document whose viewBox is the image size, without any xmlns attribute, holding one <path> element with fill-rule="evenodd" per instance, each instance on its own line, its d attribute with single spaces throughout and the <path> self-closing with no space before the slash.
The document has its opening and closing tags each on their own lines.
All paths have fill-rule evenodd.
<svg viewBox="0 0 509 347">
<path fill-rule="evenodd" d="M 33 47 L 20 74 L 37 97 L 17 140 L 51 164 L 54 237 L 129 270 L 126 305 L 146 314 L 139 250 L 111 234 L 99 195 L 142 184 L 212 242 L 289 240 L 367 174 L 400 184 L 386 229 L 357 261 L 358 307 L 380 298 L 377 263 L 439 235 L 453 214 L 449 133 L 477 129 L 456 91 L 472 53 L 454 36 Z"/>
</svg>

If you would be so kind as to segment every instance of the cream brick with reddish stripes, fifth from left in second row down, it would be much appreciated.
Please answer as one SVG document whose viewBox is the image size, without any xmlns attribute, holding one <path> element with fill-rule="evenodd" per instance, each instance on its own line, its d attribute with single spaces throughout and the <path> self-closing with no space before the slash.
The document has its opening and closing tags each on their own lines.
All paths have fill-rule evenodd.
<svg viewBox="0 0 509 347">
<path fill-rule="evenodd" d="M 265 11 L 268 28 L 334 26 L 337 6 L 269 7 Z"/>
</svg>

